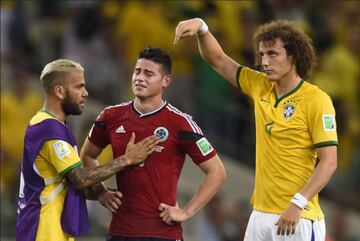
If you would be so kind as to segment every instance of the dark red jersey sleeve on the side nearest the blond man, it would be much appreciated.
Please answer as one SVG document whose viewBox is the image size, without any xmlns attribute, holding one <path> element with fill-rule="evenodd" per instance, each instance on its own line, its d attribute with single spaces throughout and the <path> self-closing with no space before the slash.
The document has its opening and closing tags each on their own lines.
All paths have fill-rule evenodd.
<svg viewBox="0 0 360 241">
<path fill-rule="evenodd" d="M 100 113 L 94 121 L 89 133 L 89 140 L 99 148 L 105 148 L 109 144 L 109 136 L 107 131 L 106 110 Z"/>
</svg>

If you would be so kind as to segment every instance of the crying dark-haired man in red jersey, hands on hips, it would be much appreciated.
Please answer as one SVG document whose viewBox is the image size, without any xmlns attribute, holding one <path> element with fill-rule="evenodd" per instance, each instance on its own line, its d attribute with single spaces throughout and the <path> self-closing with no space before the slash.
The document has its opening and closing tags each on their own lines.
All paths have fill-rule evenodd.
<svg viewBox="0 0 360 241">
<path fill-rule="evenodd" d="M 132 76 L 134 100 L 105 108 L 81 150 L 82 159 L 91 166 L 109 144 L 114 157 L 124 154 L 132 132 L 139 140 L 153 133 L 160 138 L 146 162 L 116 176 L 124 197 L 121 205 L 120 200 L 108 199 L 108 205 L 117 208 L 109 241 L 182 240 L 180 223 L 199 211 L 225 180 L 221 160 L 192 117 L 163 100 L 170 74 L 168 53 L 159 48 L 142 50 Z M 191 201 L 180 208 L 177 184 L 186 154 L 205 173 L 205 179 Z"/>
</svg>

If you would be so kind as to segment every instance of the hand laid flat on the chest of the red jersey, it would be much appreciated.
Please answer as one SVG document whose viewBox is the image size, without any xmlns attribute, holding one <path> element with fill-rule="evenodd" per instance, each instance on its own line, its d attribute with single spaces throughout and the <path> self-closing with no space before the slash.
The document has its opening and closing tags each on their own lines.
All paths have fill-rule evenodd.
<svg viewBox="0 0 360 241">
<path fill-rule="evenodd" d="M 135 165 L 143 162 L 155 150 L 159 141 L 158 137 L 152 135 L 135 144 L 135 133 L 131 133 L 125 152 L 128 164 Z"/>
</svg>

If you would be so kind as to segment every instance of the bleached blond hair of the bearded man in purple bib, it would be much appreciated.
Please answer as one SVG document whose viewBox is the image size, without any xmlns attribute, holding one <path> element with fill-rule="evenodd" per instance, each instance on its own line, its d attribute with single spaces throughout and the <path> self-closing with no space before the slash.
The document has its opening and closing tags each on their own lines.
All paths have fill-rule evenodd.
<svg viewBox="0 0 360 241">
<path fill-rule="evenodd" d="M 79 63 L 69 59 L 58 59 L 48 63 L 40 75 L 40 81 L 46 93 L 50 93 L 55 85 L 65 84 L 66 75 L 72 71 L 83 73 L 84 68 Z"/>
</svg>

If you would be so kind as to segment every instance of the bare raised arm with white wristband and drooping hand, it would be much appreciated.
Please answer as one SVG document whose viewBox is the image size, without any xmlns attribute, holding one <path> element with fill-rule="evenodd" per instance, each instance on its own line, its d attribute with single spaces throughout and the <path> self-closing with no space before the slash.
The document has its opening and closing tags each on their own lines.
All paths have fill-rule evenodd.
<svg viewBox="0 0 360 241">
<path fill-rule="evenodd" d="M 207 29 L 204 26 L 206 23 L 200 18 L 179 22 L 175 30 L 174 44 L 183 38 L 196 36 L 201 57 L 222 77 L 232 85 L 237 86 L 236 72 L 240 65 L 224 53 L 219 42 L 210 31 L 207 30 L 204 33 Z"/>
</svg>

